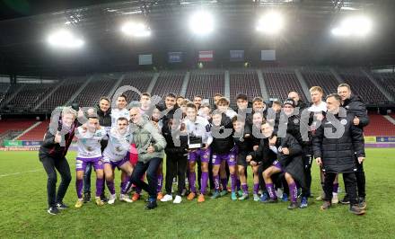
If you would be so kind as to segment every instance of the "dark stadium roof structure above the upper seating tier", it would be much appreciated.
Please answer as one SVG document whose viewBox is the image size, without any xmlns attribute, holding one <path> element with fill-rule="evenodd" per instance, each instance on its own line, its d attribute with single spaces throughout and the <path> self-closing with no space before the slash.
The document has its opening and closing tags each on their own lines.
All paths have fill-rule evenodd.
<svg viewBox="0 0 395 239">
<path fill-rule="evenodd" d="M 154 54 L 154 66 L 168 66 L 168 51 L 186 52 L 180 66 L 196 64 L 198 50 L 215 50 L 215 66 L 226 66 L 230 49 L 244 49 L 246 61 L 259 66 L 260 49 L 276 49 L 278 61 L 293 65 L 393 65 L 395 1 L 365 0 L 157 0 L 157 1 L 15 1 L 0 4 L 0 74 L 65 75 L 141 69 L 137 55 Z M 33 4 L 34 2 L 34 4 Z M 215 16 L 215 32 L 202 39 L 188 29 L 191 13 Z M 276 10 L 286 30 L 259 35 L 254 24 Z M 373 35 L 364 40 L 335 39 L 330 29 L 347 15 L 372 16 Z M 142 21 L 149 39 L 131 39 L 120 25 Z M 83 36 L 83 49 L 48 48 L 48 32 L 68 28 Z"/>
</svg>

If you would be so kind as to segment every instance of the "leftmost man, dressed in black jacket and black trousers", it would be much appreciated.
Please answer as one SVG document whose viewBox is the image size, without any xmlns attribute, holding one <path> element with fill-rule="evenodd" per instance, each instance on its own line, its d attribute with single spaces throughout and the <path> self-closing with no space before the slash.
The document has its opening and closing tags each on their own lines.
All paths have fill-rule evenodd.
<svg viewBox="0 0 395 239">
<path fill-rule="evenodd" d="M 71 173 L 65 156 L 75 136 L 77 127 L 75 118 L 75 110 L 71 107 L 64 108 L 59 120 L 51 119 L 44 141 L 40 146 L 39 158 L 48 174 L 48 213 L 51 215 L 57 215 L 58 208 L 67 208 L 63 203 L 63 198 L 71 181 Z M 62 178 L 58 189 L 56 170 Z"/>
</svg>

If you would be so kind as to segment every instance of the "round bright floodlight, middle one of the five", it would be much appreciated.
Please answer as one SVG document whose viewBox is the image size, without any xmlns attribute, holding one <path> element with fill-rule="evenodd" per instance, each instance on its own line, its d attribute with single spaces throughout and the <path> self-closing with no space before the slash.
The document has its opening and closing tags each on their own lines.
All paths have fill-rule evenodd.
<svg viewBox="0 0 395 239">
<path fill-rule="evenodd" d="M 196 35 L 207 35 L 214 31 L 213 14 L 200 11 L 189 18 L 189 28 Z"/>
</svg>

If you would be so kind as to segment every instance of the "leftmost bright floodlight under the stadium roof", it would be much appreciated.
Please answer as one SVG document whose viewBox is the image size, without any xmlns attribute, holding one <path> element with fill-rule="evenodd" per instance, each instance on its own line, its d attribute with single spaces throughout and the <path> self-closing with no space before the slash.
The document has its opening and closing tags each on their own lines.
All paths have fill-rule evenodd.
<svg viewBox="0 0 395 239">
<path fill-rule="evenodd" d="M 48 36 L 48 44 L 52 47 L 63 49 L 79 49 L 83 47 L 84 41 L 71 31 L 59 30 Z"/>
</svg>

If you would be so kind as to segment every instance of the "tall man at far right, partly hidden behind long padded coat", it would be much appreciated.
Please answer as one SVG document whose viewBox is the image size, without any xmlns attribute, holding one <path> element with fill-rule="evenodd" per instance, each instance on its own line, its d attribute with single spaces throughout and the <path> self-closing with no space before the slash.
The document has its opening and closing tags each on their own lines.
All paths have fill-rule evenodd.
<svg viewBox="0 0 395 239">
<path fill-rule="evenodd" d="M 366 106 L 359 96 L 352 94 L 348 84 L 338 85 L 338 95 L 341 97 L 341 104 L 346 108 L 347 112 L 352 112 L 355 115 L 353 123 L 356 127 L 364 130 L 364 127 L 369 124 L 369 117 L 367 116 Z M 355 156 L 356 164 L 356 186 L 358 188 L 358 201 L 361 208 L 366 208 L 366 192 L 365 192 L 365 177 L 364 177 L 364 164 L 358 164 Z M 341 200 L 342 203 L 349 203 L 347 195 Z"/>
</svg>

